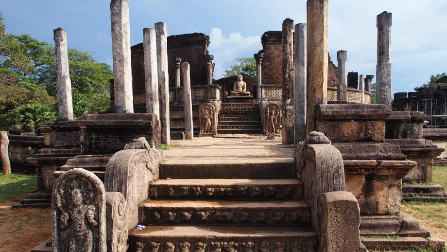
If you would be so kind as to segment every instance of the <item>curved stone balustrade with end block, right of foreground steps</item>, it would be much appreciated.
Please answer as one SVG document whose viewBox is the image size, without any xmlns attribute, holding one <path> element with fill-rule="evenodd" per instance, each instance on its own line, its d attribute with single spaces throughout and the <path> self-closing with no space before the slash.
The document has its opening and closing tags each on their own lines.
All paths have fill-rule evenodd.
<svg viewBox="0 0 447 252">
<path fill-rule="evenodd" d="M 304 183 L 311 224 L 319 236 L 319 251 L 366 251 L 360 241 L 360 208 L 345 192 L 340 151 L 319 132 L 311 132 L 295 147 L 297 176 Z"/>
</svg>

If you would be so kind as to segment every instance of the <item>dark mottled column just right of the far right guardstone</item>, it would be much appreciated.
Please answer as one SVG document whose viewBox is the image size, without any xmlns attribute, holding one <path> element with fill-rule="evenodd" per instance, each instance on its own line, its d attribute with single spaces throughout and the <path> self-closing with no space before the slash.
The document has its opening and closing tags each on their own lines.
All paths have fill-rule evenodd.
<svg viewBox="0 0 447 252">
<path fill-rule="evenodd" d="M 295 112 L 293 109 L 293 20 L 282 22 L 282 143 L 294 143 Z"/>
</svg>

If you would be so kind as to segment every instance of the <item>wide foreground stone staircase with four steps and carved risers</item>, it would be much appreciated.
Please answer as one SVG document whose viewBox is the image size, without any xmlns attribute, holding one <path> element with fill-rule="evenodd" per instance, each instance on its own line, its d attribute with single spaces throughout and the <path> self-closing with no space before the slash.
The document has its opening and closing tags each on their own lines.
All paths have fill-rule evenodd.
<svg viewBox="0 0 447 252">
<path fill-rule="evenodd" d="M 129 251 L 313 252 L 303 183 L 292 160 L 164 162 L 139 205 Z"/>
</svg>

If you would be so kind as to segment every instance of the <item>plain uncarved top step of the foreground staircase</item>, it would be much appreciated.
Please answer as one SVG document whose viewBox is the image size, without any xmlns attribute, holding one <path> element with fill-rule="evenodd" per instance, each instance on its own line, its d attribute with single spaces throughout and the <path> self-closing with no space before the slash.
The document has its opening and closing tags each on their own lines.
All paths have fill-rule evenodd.
<svg viewBox="0 0 447 252">
<path fill-rule="evenodd" d="M 242 162 L 242 163 L 241 163 Z M 160 179 L 294 179 L 293 159 L 167 160 L 160 164 Z"/>
</svg>

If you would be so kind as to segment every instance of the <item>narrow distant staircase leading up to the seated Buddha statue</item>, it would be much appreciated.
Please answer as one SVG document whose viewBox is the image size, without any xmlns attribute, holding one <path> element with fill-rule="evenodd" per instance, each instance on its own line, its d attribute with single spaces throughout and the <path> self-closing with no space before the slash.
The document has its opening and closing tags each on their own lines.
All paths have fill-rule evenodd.
<svg viewBox="0 0 447 252">
<path fill-rule="evenodd" d="M 262 135 L 257 103 L 222 103 L 217 125 L 218 134 Z"/>
</svg>

